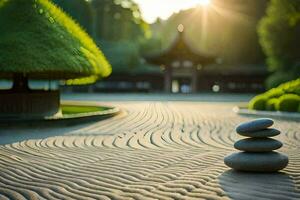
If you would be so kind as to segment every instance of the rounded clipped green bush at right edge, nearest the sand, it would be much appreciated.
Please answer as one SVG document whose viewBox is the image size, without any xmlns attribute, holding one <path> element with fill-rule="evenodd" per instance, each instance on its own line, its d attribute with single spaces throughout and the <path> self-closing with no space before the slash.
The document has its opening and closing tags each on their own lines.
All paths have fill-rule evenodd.
<svg viewBox="0 0 300 200">
<path fill-rule="evenodd" d="M 297 112 L 300 105 L 300 96 L 296 94 L 285 94 L 278 99 L 276 110 L 285 112 Z"/>
</svg>

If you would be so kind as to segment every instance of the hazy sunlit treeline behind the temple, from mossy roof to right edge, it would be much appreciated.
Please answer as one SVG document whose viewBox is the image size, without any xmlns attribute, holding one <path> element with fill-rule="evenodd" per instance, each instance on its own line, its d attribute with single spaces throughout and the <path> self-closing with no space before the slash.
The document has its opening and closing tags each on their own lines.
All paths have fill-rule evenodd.
<svg viewBox="0 0 300 200">
<path fill-rule="evenodd" d="M 208 7 L 183 10 L 151 25 L 132 0 L 53 1 L 94 38 L 113 72 L 146 69 L 142 55 L 170 46 L 177 26 L 183 24 L 186 41 L 220 58 L 224 70 L 249 64 L 264 67 L 267 60 L 274 72 L 270 87 L 299 74 L 299 0 L 212 0 Z"/>
</svg>

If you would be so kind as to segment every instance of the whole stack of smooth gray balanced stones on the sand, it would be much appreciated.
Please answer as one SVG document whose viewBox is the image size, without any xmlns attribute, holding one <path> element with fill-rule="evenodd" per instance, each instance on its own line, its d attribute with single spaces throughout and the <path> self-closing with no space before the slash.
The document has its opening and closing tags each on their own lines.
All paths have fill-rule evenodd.
<svg viewBox="0 0 300 200">
<path fill-rule="evenodd" d="M 242 152 L 233 153 L 225 157 L 225 164 L 238 171 L 248 172 L 276 172 L 288 165 L 288 157 L 275 152 L 282 147 L 282 143 L 272 139 L 280 134 L 277 129 L 270 128 L 274 124 L 272 119 L 257 119 L 240 124 L 236 132 L 247 137 L 237 141 L 234 148 Z"/>
</svg>

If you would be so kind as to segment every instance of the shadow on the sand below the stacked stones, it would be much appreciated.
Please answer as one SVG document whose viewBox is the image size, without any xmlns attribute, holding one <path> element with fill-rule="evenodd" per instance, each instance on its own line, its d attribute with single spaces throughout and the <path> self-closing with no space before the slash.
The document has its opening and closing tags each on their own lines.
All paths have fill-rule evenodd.
<svg viewBox="0 0 300 200">
<path fill-rule="evenodd" d="M 300 199 L 292 178 L 285 173 L 246 173 L 228 170 L 219 177 L 221 188 L 233 200 Z"/>
</svg>

